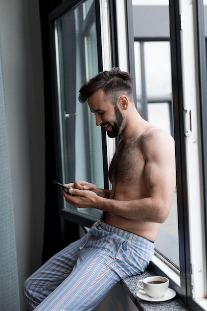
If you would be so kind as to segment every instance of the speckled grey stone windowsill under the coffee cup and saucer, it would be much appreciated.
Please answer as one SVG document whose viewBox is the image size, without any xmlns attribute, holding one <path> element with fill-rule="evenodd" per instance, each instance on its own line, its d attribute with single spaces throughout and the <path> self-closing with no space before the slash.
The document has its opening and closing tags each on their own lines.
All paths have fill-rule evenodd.
<svg viewBox="0 0 207 311">
<path fill-rule="evenodd" d="M 133 303 L 136 305 L 138 310 L 147 311 L 147 310 L 157 310 L 157 311 L 166 311 L 166 310 L 176 310 L 176 311 L 185 311 L 188 310 L 184 304 L 175 296 L 175 298 L 164 301 L 164 302 L 148 302 L 144 301 L 136 295 L 138 291 L 137 282 L 142 278 L 153 275 L 149 270 L 145 270 L 142 274 L 128 277 L 120 281 L 120 284 L 131 298 Z"/>
</svg>

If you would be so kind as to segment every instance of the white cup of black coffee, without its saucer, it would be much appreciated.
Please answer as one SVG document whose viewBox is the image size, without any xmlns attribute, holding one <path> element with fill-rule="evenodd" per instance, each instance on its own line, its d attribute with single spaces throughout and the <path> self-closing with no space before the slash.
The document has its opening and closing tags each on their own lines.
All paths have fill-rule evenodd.
<svg viewBox="0 0 207 311">
<path fill-rule="evenodd" d="M 149 276 L 148 278 L 138 280 L 137 285 L 148 296 L 160 298 L 166 294 L 169 287 L 169 280 L 163 276 Z"/>
</svg>

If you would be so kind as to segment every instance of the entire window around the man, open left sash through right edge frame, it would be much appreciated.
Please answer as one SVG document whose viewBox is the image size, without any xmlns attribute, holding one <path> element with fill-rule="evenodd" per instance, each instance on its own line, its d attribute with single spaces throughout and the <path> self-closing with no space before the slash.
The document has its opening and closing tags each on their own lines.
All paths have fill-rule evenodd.
<svg viewBox="0 0 207 311">
<path fill-rule="evenodd" d="M 75 6 L 67 7 L 69 2 Z M 81 106 L 77 98 L 79 87 L 103 64 L 104 70 L 119 64 L 122 70 L 133 71 L 126 31 L 132 20 L 126 18 L 128 4 L 128 0 L 63 1 L 63 10 L 51 14 L 58 86 L 54 115 L 61 155 L 57 166 L 62 182 L 85 178 L 106 187 L 115 144 L 99 131 L 87 105 Z M 171 287 L 191 310 L 207 310 L 206 5 L 206 0 L 133 0 L 138 111 L 171 133 L 176 145 L 177 187 L 170 215 L 155 242 L 152 267 L 171 279 Z M 112 16 L 116 16 L 116 26 Z M 110 37 L 109 24 L 115 40 Z M 63 212 L 73 214 L 75 222 L 79 222 L 76 216 L 87 218 L 84 226 L 100 216 L 98 210 L 91 214 L 65 202 L 60 205 Z"/>
</svg>

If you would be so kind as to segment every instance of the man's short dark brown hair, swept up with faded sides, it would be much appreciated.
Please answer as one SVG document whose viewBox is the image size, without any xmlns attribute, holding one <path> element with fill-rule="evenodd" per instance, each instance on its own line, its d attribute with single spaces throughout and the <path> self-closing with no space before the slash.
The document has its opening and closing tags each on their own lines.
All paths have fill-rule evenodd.
<svg viewBox="0 0 207 311">
<path fill-rule="evenodd" d="M 114 105 L 121 95 L 126 95 L 133 101 L 133 78 L 118 67 L 113 67 L 110 71 L 100 72 L 81 86 L 79 101 L 84 103 L 99 89 L 103 89 L 105 95 L 110 98 Z"/>
</svg>

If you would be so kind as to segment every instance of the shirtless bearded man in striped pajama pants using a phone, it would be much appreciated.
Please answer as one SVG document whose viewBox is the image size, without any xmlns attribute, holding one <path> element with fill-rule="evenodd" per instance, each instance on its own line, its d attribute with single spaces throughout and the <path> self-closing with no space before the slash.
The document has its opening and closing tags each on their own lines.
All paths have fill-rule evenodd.
<svg viewBox="0 0 207 311">
<path fill-rule="evenodd" d="M 112 190 L 86 181 L 67 184 L 74 207 L 103 211 L 84 237 L 69 244 L 25 281 L 30 310 L 93 310 L 110 289 L 145 270 L 175 191 L 173 138 L 141 118 L 132 77 L 119 68 L 99 73 L 80 88 L 96 125 L 120 143 L 109 168 Z"/>
</svg>

